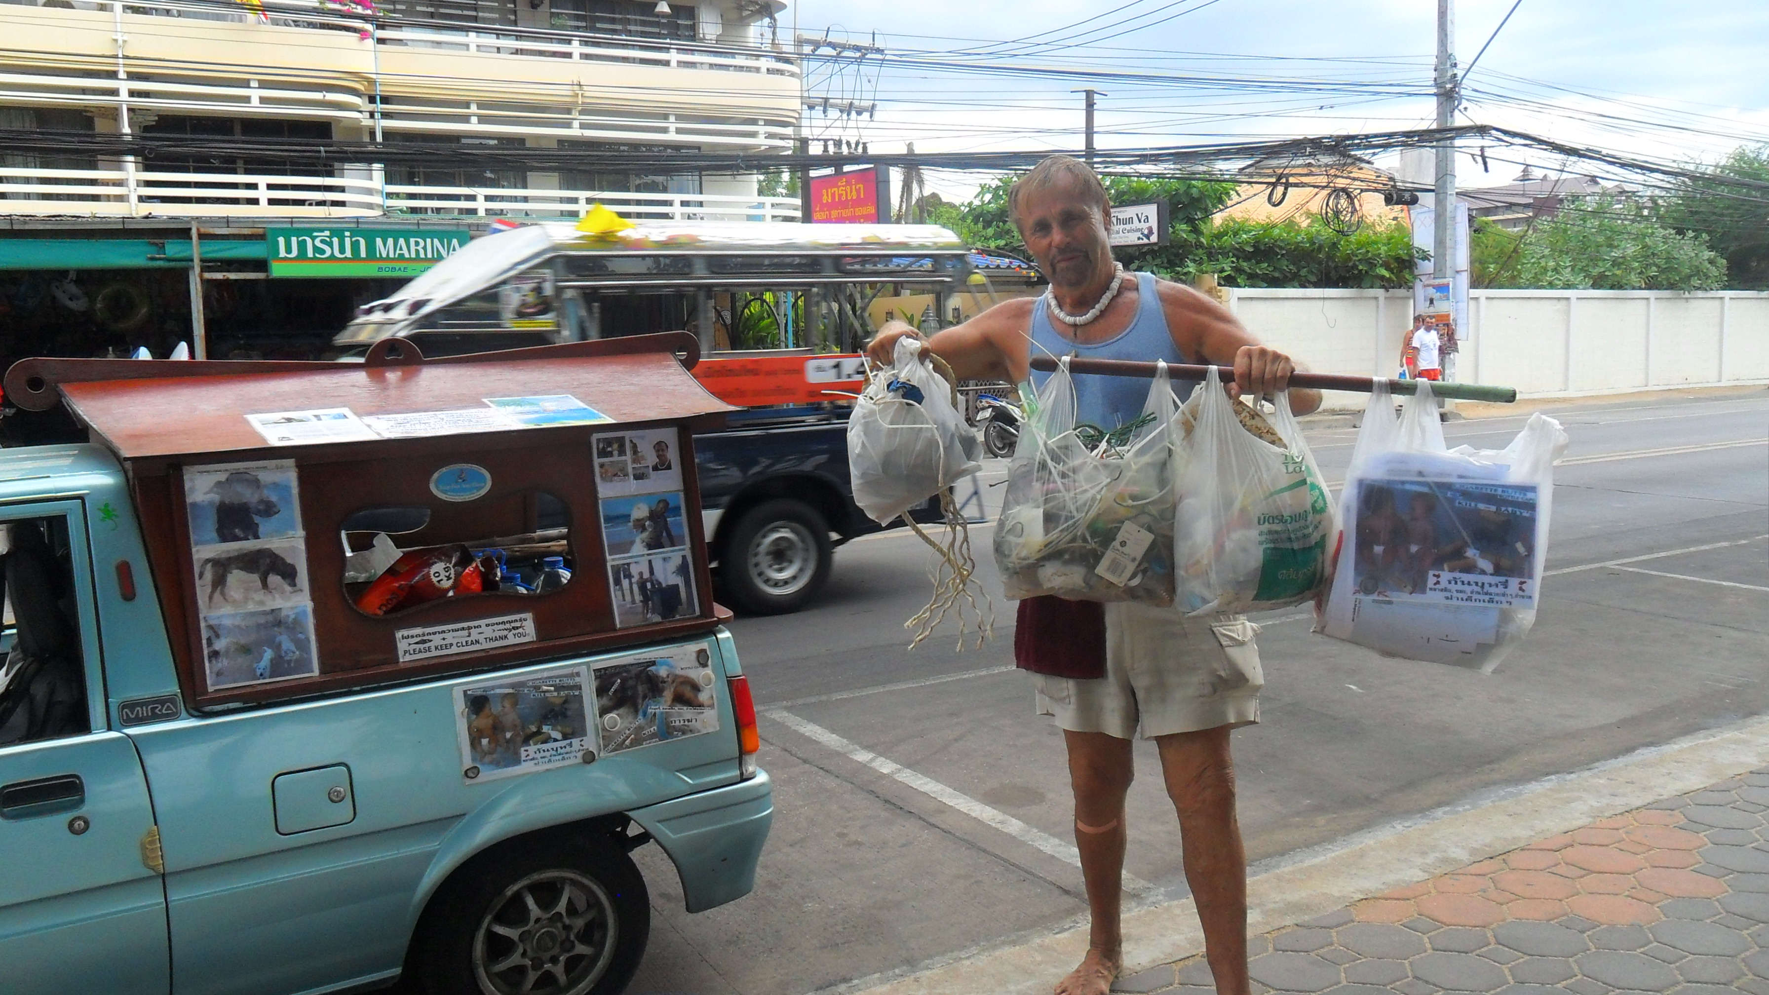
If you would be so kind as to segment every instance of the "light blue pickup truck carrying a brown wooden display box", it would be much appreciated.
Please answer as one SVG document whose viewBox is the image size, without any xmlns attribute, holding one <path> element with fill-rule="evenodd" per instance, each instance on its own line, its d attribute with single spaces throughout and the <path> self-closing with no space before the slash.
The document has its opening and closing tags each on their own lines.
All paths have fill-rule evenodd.
<svg viewBox="0 0 1769 995">
<path fill-rule="evenodd" d="M 747 894 L 724 405 L 651 338 L 12 368 L 90 441 L 0 450 L 0 990 L 617 993 L 632 850 Z"/>
</svg>

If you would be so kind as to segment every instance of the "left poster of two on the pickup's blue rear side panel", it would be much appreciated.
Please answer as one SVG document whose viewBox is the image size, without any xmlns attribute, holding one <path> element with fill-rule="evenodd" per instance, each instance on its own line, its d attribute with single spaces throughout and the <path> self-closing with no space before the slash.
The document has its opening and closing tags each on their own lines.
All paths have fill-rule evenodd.
<svg viewBox="0 0 1769 995">
<path fill-rule="evenodd" d="M 467 781 L 582 763 L 596 749 L 582 666 L 456 687 L 455 708 Z"/>
</svg>

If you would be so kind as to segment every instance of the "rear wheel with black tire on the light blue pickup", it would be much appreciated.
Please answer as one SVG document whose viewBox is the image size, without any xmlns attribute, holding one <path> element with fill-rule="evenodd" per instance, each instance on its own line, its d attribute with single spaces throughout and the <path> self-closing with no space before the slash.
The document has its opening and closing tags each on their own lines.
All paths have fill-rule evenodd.
<svg viewBox="0 0 1769 995">
<path fill-rule="evenodd" d="M 619 995 L 649 935 L 651 899 L 632 859 L 555 837 L 449 878 L 410 967 L 426 995 Z"/>
</svg>

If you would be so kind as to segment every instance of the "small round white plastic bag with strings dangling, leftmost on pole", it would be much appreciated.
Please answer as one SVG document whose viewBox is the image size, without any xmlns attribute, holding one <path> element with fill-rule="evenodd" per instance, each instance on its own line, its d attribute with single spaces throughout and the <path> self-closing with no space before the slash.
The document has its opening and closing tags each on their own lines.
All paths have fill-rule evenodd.
<svg viewBox="0 0 1769 995">
<path fill-rule="evenodd" d="M 847 418 L 854 503 L 881 526 L 978 469 L 976 432 L 922 349 L 913 336 L 899 338 L 892 365 L 872 374 Z"/>
</svg>

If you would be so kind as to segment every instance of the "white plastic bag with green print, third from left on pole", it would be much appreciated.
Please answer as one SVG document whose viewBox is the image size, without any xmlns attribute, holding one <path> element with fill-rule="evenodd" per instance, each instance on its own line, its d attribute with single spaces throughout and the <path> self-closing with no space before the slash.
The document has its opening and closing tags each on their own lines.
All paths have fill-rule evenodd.
<svg viewBox="0 0 1769 995">
<path fill-rule="evenodd" d="M 1214 366 L 1185 416 L 1192 434 L 1173 526 L 1178 609 L 1247 613 L 1311 600 L 1327 582 L 1336 522 L 1290 391 L 1277 395 L 1270 420 L 1283 446 L 1242 427 Z"/>
</svg>

